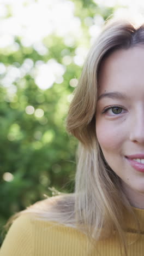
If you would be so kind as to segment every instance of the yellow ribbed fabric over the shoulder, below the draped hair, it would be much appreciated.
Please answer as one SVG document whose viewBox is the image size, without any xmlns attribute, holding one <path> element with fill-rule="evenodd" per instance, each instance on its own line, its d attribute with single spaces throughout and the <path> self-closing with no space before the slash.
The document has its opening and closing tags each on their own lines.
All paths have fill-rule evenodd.
<svg viewBox="0 0 144 256">
<path fill-rule="evenodd" d="M 76 228 L 23 213 L 11 225 L 0 255 L 75 255 L 70 254 L 73 245 L 82 246 L 85 241 L 85 235 Z"/>
</svg>

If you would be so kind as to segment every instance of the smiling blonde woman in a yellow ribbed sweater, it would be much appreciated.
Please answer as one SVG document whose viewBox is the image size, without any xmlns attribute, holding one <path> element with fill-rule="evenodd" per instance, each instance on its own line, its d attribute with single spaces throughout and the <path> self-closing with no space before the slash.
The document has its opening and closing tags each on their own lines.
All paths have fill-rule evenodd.
<svg viewBox="0 0 144 256">
<path fill-rule="evenodd" d="M 144 25 L 107 22 L 68 112 L 80 141 L 75 193 L 16 214 L 0 256 L 143 255 L 143 65 Z"/>
</svg>

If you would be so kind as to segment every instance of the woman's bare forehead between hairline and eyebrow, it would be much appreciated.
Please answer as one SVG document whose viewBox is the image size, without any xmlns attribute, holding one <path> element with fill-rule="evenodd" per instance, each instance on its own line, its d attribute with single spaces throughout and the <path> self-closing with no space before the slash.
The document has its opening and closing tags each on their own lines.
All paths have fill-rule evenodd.
<svg viewBox="0 0 144 256">
<path fill-rule="evenodd" d="M 139 86 L 144 92 L 144 46 L 116 50 L 101 62 L 99 94 L 111 90 L 129 92 Z"/>
</svg>

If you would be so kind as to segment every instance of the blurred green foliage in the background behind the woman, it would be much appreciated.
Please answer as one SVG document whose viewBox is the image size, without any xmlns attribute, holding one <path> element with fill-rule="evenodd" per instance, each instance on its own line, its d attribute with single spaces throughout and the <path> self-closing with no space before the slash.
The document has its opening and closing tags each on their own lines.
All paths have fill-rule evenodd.
<svg viewBox="0 0 144 256">
<path fill-rule="evenodd" d="M 98 14 L 106 19 L 113 9 L 99 7 L 92 0 L 73 2 L 75 16 L 81 20 L 83 43 L 89 47 L 85 18 L 93 19 Z M 75 55 L 80 44 L 77 41 L 72 47 L 65 46 L 63 38 L 53 33 L 43 40 L 49 51 L 40 55 L 33 47 L 23 46 L 19 36 L 15 37 L 15 42 L 19 45 L 17 51 L 0 49 L 1 62 L 7 67 L 19 68 L 27 59 L 32 60 L 33 65 L 50 59 L 62 63 L 65 55 L 71 58 Z M 51 196 L 49 187 L 62 192 L 74 191 L 77 141 L 67 135 L 64 124 L 68 96 L 74 90 L 69 82 L 79 79 L 80 73 L 81 66 L 71 62 L 61 84 L 54 83 L 51 88 L 42 90 L 29 72 L 14 82 L 17 89 L 14 97 L 10 97 L 7 87 L 0 84 L 0 226 L 15 212 L 43 200 L 44 194 Z M 3 77 L 1 74 L 0 78 Z M 42 109 L 44 115 L 27 114 L 27 106 Z"/>
</svg>

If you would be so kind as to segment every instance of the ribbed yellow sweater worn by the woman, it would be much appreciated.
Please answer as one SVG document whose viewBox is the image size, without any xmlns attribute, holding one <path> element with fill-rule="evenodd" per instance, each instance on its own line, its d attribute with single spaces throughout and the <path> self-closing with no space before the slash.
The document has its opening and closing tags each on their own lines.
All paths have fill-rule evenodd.
<svg viewBox="0 0 144 256">
<path fill-rule="evenodd" d="M 140 221 L 138 241 L 128 246 L 128 256 L 144 255 L 144 210 L 134 208 Z M 136 239 L 136 226 L 125 216 L 127 242 Z M 11 225 L 0 250 L 0 256 L 120 256 L 117 238 L 98 241 L 93 247 L 86 235 L 62 224 L 36 220 L 23 214 Z"/>
</svg>

